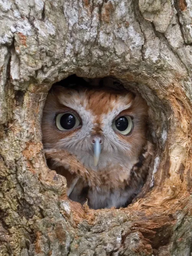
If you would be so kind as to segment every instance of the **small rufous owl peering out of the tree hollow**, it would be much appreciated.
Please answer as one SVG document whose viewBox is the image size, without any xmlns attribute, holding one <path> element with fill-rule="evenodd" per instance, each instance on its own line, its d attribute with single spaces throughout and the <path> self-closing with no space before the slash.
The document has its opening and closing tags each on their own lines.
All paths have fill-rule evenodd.
<svg viewBox="0 0 192 256">
<path fill-rule="evenodd" d="M 53 86 L 42 118 L 45 155 L 66 177 L 68 197 L 90 208 L 125 207 L 141 190 L 151 160 L 147 105 L 112 88 Z"/>
</svg>

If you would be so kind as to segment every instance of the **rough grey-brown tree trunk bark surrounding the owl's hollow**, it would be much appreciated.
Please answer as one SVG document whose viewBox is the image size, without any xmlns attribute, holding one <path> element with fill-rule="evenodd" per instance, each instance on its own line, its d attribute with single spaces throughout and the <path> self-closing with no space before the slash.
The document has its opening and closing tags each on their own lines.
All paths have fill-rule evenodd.
<svg viewBox="0 0 192 256">
<path fill-rule="evenodd" d="M 0 0 L 0 255 L 192 255 L 190 0 Z M 41 114 L 71 74 L 113 76 L 150 106 L 140 199 L 93 210 L 46 166 Z"/>
</svg>

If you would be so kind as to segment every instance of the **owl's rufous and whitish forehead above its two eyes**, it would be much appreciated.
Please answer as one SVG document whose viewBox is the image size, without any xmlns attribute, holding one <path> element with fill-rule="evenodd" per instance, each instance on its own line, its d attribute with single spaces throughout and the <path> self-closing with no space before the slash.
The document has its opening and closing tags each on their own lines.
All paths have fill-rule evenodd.
<svg viewBox="0 0 192 256">
<path fill-rule="evenodd" d="M 74 89 L 63 88 L 58 95 L 62 105 L 74 110 L 84 108 L 94 115 L 107 114 L 113 110 L 127 109 L 132 105 L 134 95 L 129 91 Z"/>
</svg>

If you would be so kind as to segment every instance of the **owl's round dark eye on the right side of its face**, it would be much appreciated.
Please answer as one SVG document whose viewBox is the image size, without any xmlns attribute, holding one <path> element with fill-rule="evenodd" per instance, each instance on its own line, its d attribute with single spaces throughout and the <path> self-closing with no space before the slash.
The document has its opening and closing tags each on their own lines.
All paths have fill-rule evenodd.
<svg viewBox="0 0 192 256">
<path fill-rule="evenodd" d="M 119 116 L 112 123 L 112 128 L 115 131 L 118 131 L 122 135 L 127 135 L 131 132 L 133 127 L 133 122 L 131 116 Z"/>
</svg>

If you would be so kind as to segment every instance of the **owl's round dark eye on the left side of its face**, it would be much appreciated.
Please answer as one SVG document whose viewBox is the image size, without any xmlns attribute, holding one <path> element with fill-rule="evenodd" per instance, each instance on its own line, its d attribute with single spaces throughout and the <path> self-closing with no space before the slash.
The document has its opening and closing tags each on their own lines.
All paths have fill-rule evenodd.
<svg viewBox="0 0 192 256">
<path fill-rule="evenodd" d="M 61 131 L 68 131 L 79 126 L 78 117 L 71 112 L 61 113 L 56 116 L 56 126 Z"/>
</svg>

